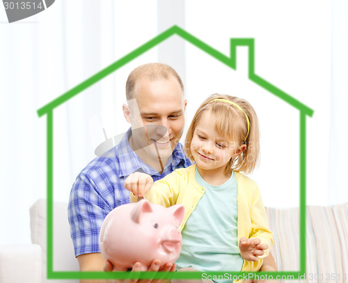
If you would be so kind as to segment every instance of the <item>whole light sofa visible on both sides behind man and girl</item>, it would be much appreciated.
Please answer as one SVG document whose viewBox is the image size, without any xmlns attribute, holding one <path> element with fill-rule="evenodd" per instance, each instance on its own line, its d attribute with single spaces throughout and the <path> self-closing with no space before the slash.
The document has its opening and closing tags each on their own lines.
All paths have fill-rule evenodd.
<svg viewBox="0 0 348 283">
<path fill-rule="evenodd" d="M 79 270 L 67 208 L 68 204 L 54 202 L 54 270 Z M 33 244 L 0 246 L 0 283 L 78 282 L 46 279 L 46 200 L 33 204 L 30 215 Z M 299 270 L 299 208 L 267 208 L 267 215 L 279 270 Z M 348 282 L 348 204 L 308 206 L 306 238 L 306 281 Z"/>
</svg>

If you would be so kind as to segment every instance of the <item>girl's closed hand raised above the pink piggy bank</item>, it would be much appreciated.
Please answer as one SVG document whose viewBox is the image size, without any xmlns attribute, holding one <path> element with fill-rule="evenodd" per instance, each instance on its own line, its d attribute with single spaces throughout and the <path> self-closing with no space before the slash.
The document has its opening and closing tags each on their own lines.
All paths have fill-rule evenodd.
<svg viewBox="0 0 348 283">
<path fill-rule="evenodd" d="M 135 172 L 130 174 L 125 181 L 125 188 L 136 197 L 143 197 L 152 187 L 152 177 L 145 173 Z"/>
</svg>

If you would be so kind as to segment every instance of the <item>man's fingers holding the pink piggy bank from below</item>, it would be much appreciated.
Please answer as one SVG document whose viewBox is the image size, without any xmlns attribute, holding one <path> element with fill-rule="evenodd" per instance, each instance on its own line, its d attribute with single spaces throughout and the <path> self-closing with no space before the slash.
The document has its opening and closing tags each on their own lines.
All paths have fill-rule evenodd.
<svg viewBox="0 0 348 283">
<path fill-rule="evenodd" d="M 148 268 L 147 271 L 175 271 L 176 265 L 175 263 L 168 262 L 164 264 L 164 266 L 161 266 L 161 261 L 159 259 L 155 259 L 152 261 L 150 268 Z M 127 268 L 120 268 L 118 266 L 113 266 L 110 261 L 106 261 L 104 265 L 104 271 L 109 272 L 109 271 L 126 271 Z M 134 263 L 134 266 L 131 270 L 132 271 L 142 271 L 141 270 L 141 263 L 136 262 Z M 160 283 L 163 282 L 164 280 L 115 280 L 115 283 Z M 113 282 L 114 283 L 114 282 Z"/>
</svg>

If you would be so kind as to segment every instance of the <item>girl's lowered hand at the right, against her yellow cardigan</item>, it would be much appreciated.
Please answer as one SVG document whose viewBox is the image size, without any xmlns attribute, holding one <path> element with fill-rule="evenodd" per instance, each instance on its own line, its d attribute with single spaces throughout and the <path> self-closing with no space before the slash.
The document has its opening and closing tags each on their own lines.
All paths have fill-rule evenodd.
<svg viewBox="0 0 348 283">
<path fill-rule="evenodd" d="M 239 250 L 246 261 L 258 261 L 259 257 L 268 249 L 267 244 L 262 244 L 259 238 L 245 238 L 239 240 Z"/>
</svg>

